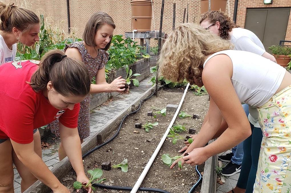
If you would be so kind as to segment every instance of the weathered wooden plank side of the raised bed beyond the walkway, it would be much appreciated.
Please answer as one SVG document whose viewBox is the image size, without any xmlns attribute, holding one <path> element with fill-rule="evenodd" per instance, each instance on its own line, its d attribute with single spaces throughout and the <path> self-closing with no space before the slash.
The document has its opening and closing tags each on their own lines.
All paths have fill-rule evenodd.
<svg viewBox="0 0 291 193">
<path fill-rule="evenodd" d="M 129 68 L 132 69 L 133 74 L 139 73 L 141 76 L 136 78 L 139 81 L 145 79 L 148 75 L 150 75 L 150 62 L 149 59 L 141 59 L 139 61 L 136 61 L 134 64 L 132 64 Z M 122 76 L 123 78 L 126 77 L 126 70 L 125 66 L 122 68 L 119 68 L 116 71 L 116 76 L 115 78 Z M 114 78 L 114 79 L 115 79 Z M 113 93 L 98 93 L 98 94 L 93 94 L 91 97 L 91 103 L 90 103 L 90 109 L 95 109 L 99 105 L 103 104 L 107 100 L 119 95 L 120 93 L 118 92 L 113 92 Z"/>
</svg>

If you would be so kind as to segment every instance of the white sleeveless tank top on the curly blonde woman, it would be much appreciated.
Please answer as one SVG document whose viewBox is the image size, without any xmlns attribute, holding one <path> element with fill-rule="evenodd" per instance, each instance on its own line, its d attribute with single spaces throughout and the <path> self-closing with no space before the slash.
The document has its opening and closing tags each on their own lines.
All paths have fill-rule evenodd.
<svg viewBox="0 0 291 193">
<path fill-rule="evenodd" d="M 218 54 L 226 54 L 233 63 L 231 82 L 240 100 L 261 107 L 278 90 L 285 68 L 258 54 L 240 50 L 224 50 L 209 56 L 203 64 Z M 207 89 L 207 88 L 206 88 Z"/>
</svg>

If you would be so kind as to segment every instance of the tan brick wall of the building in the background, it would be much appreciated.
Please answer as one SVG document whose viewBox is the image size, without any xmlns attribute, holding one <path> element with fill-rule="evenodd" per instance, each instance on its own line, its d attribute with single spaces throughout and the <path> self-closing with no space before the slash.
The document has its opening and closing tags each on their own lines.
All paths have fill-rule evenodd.
<svg viewBox="0 0 291 193">
<path fill-rule="evenodd" d="M 10 0 L 4 0 L 9 3 Z M 46 17 L 46 22 L 54 27 L 62 28 L 68 33 L 67 24 L 67 7 L 66 0 L 15 0 L 13 1 L 19 6 L 23 6 L 33 10 L 35 13 L 43 13 Z M 82 36 L 84 26 L 88 18 L 96 11 L 104 11 L 113 18 L 116 29 L 115 34 L 124 34 L 132 31 L 131 28 L 131 7 L 129 0 L 69 0 L 70 2 L 70 21 L 72 31 L 78 37 Z M 170 33 L 172 30 L 173 21 L 173 3 L 176 3 L 176 25 L 182 23 L 184 8 L 187 8 L 189 3 L 189 22 L 195 23 L 200 21 L 200 0 L 166 0 L 164 6 L 163 31 Z M 230 0 L 230 17 L 233 17 L 234 0 Z M 152 30 L 159 30 L 160 12 L 162 0 L 154 0 L 154 17 L 152 20 Z M 291 7 L 290 0 L 273 0 L 273 4 L 266 6 L 263 0 L 239 0 L 237 10 L 237 24 L 244 27 L 246 8 L 266 8 L 266 7 Z M 228 5 L 226 7 L 228 14 Z M 186 21 L 186 19 L 185 19 Z M 291 17 L 289 18 L 286 40 L 291 39 Z"/>
</svg>

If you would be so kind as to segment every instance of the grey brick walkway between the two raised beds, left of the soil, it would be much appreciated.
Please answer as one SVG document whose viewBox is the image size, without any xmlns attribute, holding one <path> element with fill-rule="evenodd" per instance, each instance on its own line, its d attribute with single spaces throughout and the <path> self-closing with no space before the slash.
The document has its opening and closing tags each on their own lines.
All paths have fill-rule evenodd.
<svg viewBox="0 0 291 193">
<path fill-rule="evenodd" d="M 130 88 L 129 94 L 120 94 L 113 98 L 108 105 L 96 107 L 91 111 L 90 118 L 90 136 L 84 141 L 88 140 L 95 132 L 99 131 L 106 123 L 112 118 L 117 116 L 123 109 L 127 108 L 134 100 L 147 91 L 152 83 L 148 83 L 152 76 L 144 79 L 140 82 L 139 87 L 133 86 Z M 45 139 L 47 143 L 53 144 L 46 149 L 42 150 L 42 160 L 47 164 L 49 169 L 52 169 L 55 164 L 58 163 L 58 144 L 59 138 L 55 138 L 54 135 Z M 43 140 L 42 140 L 43 141 Z M 14 192 L 20 193 L 21 178 L 14 168 Z"/>
</svg>

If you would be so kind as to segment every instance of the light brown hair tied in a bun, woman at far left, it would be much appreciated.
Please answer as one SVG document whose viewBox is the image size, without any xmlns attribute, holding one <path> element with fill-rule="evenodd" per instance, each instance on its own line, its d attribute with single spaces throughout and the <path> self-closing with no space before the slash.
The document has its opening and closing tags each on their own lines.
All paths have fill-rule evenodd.
<svg viewBox="0 0 291 193">
<path fill-rule="evenodd" d="M 29 31 L 32 24 L 40 22 L 38 16 L 31 10 L 17 7 L 14 3 L 6 5 L 0 1 L 0 30 L 12 32 L 13 27 L 16 27 L 23 33 Z"/>
</svg>

